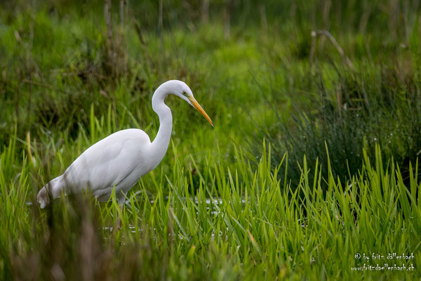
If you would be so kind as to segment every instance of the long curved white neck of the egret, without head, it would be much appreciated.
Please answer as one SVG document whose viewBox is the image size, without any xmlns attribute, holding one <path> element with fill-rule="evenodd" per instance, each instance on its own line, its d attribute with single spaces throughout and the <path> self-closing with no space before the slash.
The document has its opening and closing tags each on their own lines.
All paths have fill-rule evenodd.
<svg viewBox="0 0 421 281">
<path fill-rule="evenodd" d="M 171 129 L 173 129 L 173 115 L 171 115 L 170 107 L 166 106 L 163 100 L 168 96 L 165 87 L 156 89 L 152 96 L 152 108 L 159 116 L 159 130 L 152 142 L 152 159 L 156 160 L 154 167 L 158 166 L 163 159 L 170 144 Z"/>
</svg>

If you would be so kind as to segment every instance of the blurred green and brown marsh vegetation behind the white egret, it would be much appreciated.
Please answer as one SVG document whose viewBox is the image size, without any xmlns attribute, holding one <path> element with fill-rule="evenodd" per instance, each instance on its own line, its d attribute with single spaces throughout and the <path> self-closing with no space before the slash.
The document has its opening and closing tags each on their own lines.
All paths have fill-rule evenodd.
<svg viewBox="0 0 421 281">
<path fill-rule="evenodd" d="M 229 130 L 205 150 L 218 138 L 233 157 L 225 144 L 247 141 L 255 159 L 265 137 L 274 166 L 288 152 L 294 183 L 304 155 L 328 164 L 326 145 L 342 180 L 375 143 L 407 166 L 421 150 L 419 11 L 415 0 L 2 1 L 0 141 L 89 134 L 91 105 L 153 135 L 154 89 L 182 79 Z M 186 108 L 174 108 L 175 140 L 195 137 L 183 118 L 203 124 Z"/>
</svg>

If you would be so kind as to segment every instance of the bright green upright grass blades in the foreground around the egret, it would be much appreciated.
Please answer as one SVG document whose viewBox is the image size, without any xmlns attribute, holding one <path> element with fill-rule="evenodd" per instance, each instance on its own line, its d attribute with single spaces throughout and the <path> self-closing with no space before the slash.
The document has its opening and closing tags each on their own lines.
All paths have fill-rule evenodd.
<svg viewBox="0 0 421 281">
<path fill-rule="evenodd" d="M 70 279 L 86 273 L 140 279 L 411 280 L 420 274 L 421 243 L 415 239 L 421 235 L 417 173 L 410 176 L 407 188 L 394 162 L 383 169 L 380 148 L 374 165 L 365 154 L 359 176 L 347 183 L 334 178 L 331 169 L 328 178 L 309 181 L 304 159 L 300 184 L 291 188 L 278 174 L 287 155 L 271 171 L 271 148 L 263 152 L 256 169 L 240 150 L 231 169 L 222 164 L 200 168 L 188 155 L 192 172 L 172 145 L 171 168 L 142 178 L 123 209 L 121 230 L 115 231 L 110 230 L 119 212 L 115 196 L 108 204 L 92 202 L 90 197 L 62 197 L 41 212 L 36 204 L 27 204 L 35 199 L 30 184 L 34 167 L 24 155 L 24 166 L 14 169 L 19 174 L 6 179 L 13 174 L 4 169 L 13 166 L 8 156 L 14 153 L 13 144 L 1 154 L 4 277 L 13 273 L 26 278 L 30 272 L 36 279 L 50 279 L 62 272 Z M 32 153 L 37 159 L 39 155 Z M 62 158 L 60 150 L 53 154 Z M 216 158 L 224 161 L 222 155 Z M 319 164 L 314 169 L 321 175 Z M 355 259 L 356 253 L 394 252 L 414 253 L 414 260 L 394 262 L 413 264 L 415 269 L 352 270 L 377 263 Z M 54 267 L 58 273 L 52 273 Z M 41 270 L 46 268 L 51 270 Z"/>
</svg>

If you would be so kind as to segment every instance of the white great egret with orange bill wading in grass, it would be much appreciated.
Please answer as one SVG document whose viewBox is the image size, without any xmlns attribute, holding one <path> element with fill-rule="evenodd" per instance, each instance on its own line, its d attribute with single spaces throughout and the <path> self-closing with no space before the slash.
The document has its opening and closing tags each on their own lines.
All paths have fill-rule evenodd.
<svg viewBox="0 0 421 281">
<path fill-rule="evenodd" d="M 117 131 L 85 150 L 66 171 L 42 188 L 37 196 L 41 208 L 60 197 L 63 189 L 68 193 L 84 192 L 86 188 L 100 202 L 107 202 L 115 186 L 116 198 L 122 207 L 126 193 L 140 177 L 152 171 L 163 159 L 170 143 L 173 116 L 163 102 L 173 94 L 187 101 L 213 126 L 203 108 L 197 103 L 192 90 L 182 81 L 170 80 L 161 84 L 152 96 L 152 108 L 159 116 L 159 130 L 151 143 L 147 133 L 140 129 Z"/>
</svg>

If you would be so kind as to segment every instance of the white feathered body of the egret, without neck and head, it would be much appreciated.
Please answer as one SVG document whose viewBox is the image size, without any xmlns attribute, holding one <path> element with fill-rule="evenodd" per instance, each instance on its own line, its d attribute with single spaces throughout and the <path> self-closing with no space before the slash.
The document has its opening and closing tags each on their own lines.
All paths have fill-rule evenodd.
<svg viewBox="0 0 421 281">
<path fill-rule="evenodd" d="M 85 150 L 61 176 L 50 181 L 48 188 L 54 198 L 60 196 L 63 188 L 66 193 L 89 188 L 103 202 L 109 199 L 115 185 L 121 201 L 121 192 L 128 192 L 141 176 L 154 169 L 148 162 L 152 159 L 150 145 L 149 136 L 142 130 L 117 131 Z"/>
</svg>

